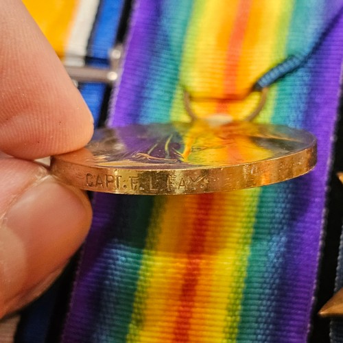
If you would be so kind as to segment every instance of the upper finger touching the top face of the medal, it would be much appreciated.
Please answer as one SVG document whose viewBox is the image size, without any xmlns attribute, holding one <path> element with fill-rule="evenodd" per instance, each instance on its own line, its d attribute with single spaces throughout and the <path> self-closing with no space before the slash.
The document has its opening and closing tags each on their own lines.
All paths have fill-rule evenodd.
<svg viewBox="0 0 343 343">
<path fill-rule="evenodd" d="M 19 0 L 0 0 L 0 150 L 19 158 L 85 145 L 93 119 Z"/>
</svg>

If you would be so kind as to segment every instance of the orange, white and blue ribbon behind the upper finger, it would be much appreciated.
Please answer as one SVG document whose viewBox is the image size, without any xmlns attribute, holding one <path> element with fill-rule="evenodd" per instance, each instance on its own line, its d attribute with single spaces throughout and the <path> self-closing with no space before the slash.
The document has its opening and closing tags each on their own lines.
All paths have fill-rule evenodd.
<svg viewBox="0 0 343 343">
<path fill-rule="evenodd" d="M 64 64 L 108 67 L 115 45 L 123 0 L 23 0 Z M 99 122 L 104 84 L 80 84 L 95 126 Z"/>
</svg>

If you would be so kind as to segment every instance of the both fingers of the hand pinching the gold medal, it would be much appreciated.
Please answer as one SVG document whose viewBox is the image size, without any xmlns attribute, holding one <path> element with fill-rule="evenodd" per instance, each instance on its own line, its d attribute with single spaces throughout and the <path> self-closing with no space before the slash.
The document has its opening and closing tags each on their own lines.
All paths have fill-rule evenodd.
<svg viewBox="0 0 343 343">
<path fill-rule="evenodd" d="M 44 292 L 86 237 L 84 193 L 33 160 L 84 146 L 93 119 L 21 1 L 0 5 L 1 318 Z"/>
</svg>

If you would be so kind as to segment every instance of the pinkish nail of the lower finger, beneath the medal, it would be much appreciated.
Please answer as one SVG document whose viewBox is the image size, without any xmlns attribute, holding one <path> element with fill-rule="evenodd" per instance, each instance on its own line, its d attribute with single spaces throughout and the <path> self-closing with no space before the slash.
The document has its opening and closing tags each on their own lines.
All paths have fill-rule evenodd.
<svg viewBox="0 0 343 343">
<path fill-rule="evenodd" d="M 65 263 L 82 244 L 90 222 L 84 193 L 51 176 L 25 191 L 5 216 L 0 234 L 5 298 L 34 287 Z"/>
</svg>

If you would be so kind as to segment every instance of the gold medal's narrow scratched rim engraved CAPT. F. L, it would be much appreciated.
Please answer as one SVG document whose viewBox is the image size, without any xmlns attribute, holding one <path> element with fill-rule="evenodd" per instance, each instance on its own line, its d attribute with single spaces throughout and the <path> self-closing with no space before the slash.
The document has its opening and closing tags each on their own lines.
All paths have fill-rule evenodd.
<svg viewBox="0 0 343 343">
<path fill-rule="evenodd" d="M 88 167 L 51 160 L 51 174 L 88 191 L 130 195 L 181 195 L 234 191 L 296 178 L 316 165 L 316 141 L 300 152 L 241 165 L 199 169 Z"/>
</svg>

